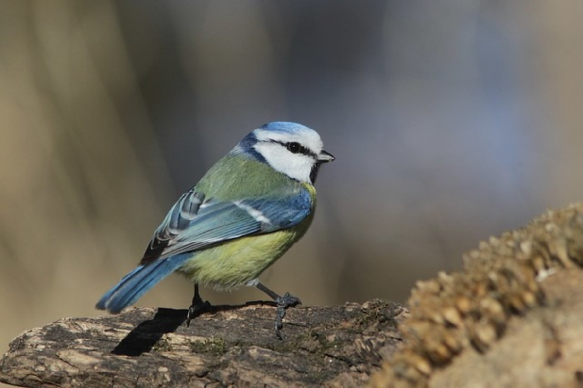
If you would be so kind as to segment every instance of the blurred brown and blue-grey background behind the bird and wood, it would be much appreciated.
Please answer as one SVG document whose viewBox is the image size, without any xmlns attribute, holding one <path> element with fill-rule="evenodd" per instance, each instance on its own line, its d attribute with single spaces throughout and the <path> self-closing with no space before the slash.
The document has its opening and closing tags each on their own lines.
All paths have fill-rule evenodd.
<svg viewBox="0 0 583 388">
<path fill-rule="evenodd" d="M 545 0 L 0 0 L 0 351 L 103 314 L 180 194 L 272 120 L 336 156 L 310 232 L 262 275 L 307 305 L 405 301 L 480 240 L 581 201 L 580 15 Z M 138 305 L 191 298 L 173 275 Z"/>
</svg>

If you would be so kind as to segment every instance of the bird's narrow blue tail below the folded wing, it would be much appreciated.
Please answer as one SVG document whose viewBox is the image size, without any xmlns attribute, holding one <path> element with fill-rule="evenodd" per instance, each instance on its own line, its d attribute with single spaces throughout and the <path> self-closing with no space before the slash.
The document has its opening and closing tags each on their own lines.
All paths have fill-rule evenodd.
<svg viewBox="0 0 583 388">
<path fill-rule="evenodd" d="M 125 275 L 120 283 L 115 284 L 111 290 L 107 291 L 95 307 L 114 314 L 122 311 L 122 309 L 134 304 L 147 290 L 158 284 L 164 277 L 180 268 L 188 258 L 189 255 L 180 254 L 138 266 Z"/>
</svg>

